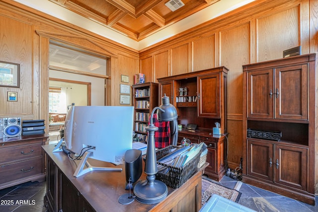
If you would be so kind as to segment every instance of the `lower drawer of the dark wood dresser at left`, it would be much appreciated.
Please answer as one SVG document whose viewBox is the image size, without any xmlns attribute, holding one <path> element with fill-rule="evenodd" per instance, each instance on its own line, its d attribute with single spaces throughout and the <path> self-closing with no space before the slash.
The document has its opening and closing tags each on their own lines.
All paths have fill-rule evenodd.
<svg viewBox="0 0 318 212">
<path fill-rule="evenodd" d="M 0 184 L 40 174 L 42 158 L 10 163 L 0 166 Z"/>
</svg>

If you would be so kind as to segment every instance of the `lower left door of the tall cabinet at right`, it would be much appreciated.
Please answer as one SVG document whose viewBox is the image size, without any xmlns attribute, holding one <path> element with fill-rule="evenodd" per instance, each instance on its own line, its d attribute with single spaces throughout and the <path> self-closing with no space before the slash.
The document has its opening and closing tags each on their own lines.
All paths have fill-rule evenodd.
<svg viewBox="0 0 318 212">
<path fill-rule="evenodd" d="M 247 140 L 247 174 L 273 181 L 273 144 Z"/>
</svg>

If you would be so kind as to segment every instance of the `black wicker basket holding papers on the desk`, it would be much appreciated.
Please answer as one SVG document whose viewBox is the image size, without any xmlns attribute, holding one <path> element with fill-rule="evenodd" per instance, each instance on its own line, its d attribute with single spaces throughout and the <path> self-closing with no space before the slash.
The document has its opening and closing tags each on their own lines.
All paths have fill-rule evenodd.
<svg viewBox="0 0 318 212">
<path fill-rule="evenodd" d="M 163 157 L 164 155 L 170 153 L 171 150 L 174 148 L 180 148 L 180 146 L 169 145 L 167 147 L 157 150 L 157 160 Z M 165 185 L 173 189 L 180 188 L 197 171 L 197 165 L 200 160 L 201 152 L 202 151 L 200 151 L 190 161 L 188 161 L 185 165 L 181 167 L 174 167 L 157 161 L 159 165 L 167 167 L 169 172 L 165 174 L 159 171 L 156 174 L 156 179 L 160 180 Z M 144 160 L 145 159 L 146 157 L 144 157 Z"/>
</svg>

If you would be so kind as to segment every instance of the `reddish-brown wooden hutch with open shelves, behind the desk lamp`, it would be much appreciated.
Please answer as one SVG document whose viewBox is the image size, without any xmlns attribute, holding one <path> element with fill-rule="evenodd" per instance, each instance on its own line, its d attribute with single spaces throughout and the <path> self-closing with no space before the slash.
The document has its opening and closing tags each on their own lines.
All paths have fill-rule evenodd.
<svg viewBox="0 0 318 212">
<path fill-rule="evenodd" d="M 205 174 L 214 180 L 220 180 L 226 172 L 228 71 L 225 67 L 217 67 L 158 79 L 159 96 L 170 95 L 171 104 L 177 108 L 178 124 L 198 126 L 195 132 L 179 131 L 178 144 L 183 138 L 193 143 L 205 142 L 209 163 Z M 216 122 L 220 123 L 222 134 L 217 138 L 212 135 Z"/>
</svg>

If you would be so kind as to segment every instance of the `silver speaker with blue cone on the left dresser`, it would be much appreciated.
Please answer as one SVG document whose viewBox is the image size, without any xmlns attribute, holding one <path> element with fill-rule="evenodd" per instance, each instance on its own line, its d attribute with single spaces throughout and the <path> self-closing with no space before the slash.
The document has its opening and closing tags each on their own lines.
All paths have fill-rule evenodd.
<svg viewBox="0 0 318 212">
<path fill-rule="evenodd" d="M 1 128 L 0 128 L 1 130 Z M 3 118 L 3 138 L 21 136 L 21 118 Z"/>
</svg>

